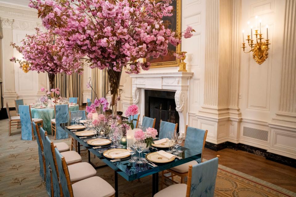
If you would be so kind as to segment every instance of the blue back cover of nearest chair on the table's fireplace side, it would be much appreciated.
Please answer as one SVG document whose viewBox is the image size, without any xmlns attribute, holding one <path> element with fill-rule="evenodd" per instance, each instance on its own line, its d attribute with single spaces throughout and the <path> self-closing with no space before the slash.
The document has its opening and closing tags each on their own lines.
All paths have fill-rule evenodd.
<svg viewBox="0 0 296 197">
<path fill-rule="evenodd" d="M 205 130 L 197 129 L 194 127 L 187 127 L 184 147 L 202 153 L 204 147 L 205 133 Z M 198 163 L 201 163 L 201 159 L 202 158 L 196 159 L 196 161 Z"/>
</svg>

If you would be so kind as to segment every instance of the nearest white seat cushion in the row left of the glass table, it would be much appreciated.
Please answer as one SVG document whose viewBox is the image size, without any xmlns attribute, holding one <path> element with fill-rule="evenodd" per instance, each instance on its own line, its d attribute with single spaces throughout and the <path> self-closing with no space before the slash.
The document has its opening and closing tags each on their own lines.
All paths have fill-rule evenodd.
<svg viewBox="0 0 296 197">
<path fill-rule="evenodd" d="M 75 197 L 109 197 L 115 194 L 114 188 L 98 176 L 78 181 L 72 188 Z"/>
</svg>

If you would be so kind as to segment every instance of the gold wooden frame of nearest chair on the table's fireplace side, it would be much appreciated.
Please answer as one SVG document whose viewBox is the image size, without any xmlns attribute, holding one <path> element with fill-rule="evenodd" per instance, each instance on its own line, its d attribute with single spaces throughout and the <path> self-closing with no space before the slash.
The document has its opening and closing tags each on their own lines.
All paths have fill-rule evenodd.
<svg viewBox="0 0 296 197">
<path fill-rule="evenodd" d="M 186 128 L 185 128 L 185 136 L 186 136 L 186 132 L 187 132 L 187 127 L 188 127 L 188 125 L 186 125 Z M 206 131 L 205 131 L 205 134 L 204 134 L 204 143 L 203 143 L 203 149 L 202 149 L 202 152 L 201 152 L 201 160 L 200 160 L 201 162 L 203 162 L 204 145 L 205 145 L 205 143 L 206 143 L 207 134 L 208 134 L 208 130 L 206 130 Z M 168 173 L 171 173 L 171 175 L 170 175 L 170 176 L 165 176 L 165 174 L 168 174 Z M 162 189 L 162 188 L 163 188 L 163 185 L 168 186 L 168 185 L 165 183 L 164 179 L 168 179 L 168 180 L 170 180 L 171 182 L 178 184 L 178 182 L 176 182 L 176 181 L 174 180 L 174 177 L 175 177 L 175 176 L 180 176 L 180 177 L 181 177 L 180 182 L 181 182 L 181 183 L 185 183 L 185 177 L 188 176 L 188 172 L 180 173 L 180 172 L 177 172 L 177 171 L 174 171 L 174 170 L 171 170 L 171 169 L 167 169 L 166 171 L 162 171 L 161 175 L 162 175 L 162 176 L 161 176 L 161 189 Z M 170 179 L 170 178 L 171 178 L 171 179 Z"/>
</svg>

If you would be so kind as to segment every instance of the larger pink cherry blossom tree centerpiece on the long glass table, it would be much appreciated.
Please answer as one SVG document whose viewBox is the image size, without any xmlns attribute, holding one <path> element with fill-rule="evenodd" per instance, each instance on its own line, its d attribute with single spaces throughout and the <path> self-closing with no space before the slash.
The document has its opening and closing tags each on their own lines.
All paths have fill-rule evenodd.
<svg viewBox="0 0 296 197">
<path fill-rule="evenodd" d="M 111 106 L 116 115 L 119 82 L 123 69 L 138 74 L 149 70 L 140 58 L 168 53 L 168 44 L 181 43 L 182 32 L 168 28 L 163 16 L 171 16 L 172 0 L 30 0 L 43 26 L 63 37 L 69 50 L 88 57 L 91 68 L 107 69 Z M 183 33 L 191 37 L 191 27 Z"/>
</svg>

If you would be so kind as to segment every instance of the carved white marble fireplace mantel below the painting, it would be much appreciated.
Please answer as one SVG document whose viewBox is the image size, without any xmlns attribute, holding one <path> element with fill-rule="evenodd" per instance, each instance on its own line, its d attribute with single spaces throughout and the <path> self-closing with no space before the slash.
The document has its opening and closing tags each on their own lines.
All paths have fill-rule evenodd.
<svg viewBox="0 0 296 197">
<path fill-rule="evenodd" d="M 179 131 L 183 133 L 187 117 L 188 84 L 192 75 L 190 72 L 130 74 L 133 103 L 139 107 L 140 122 L 145 114 L 145 89 L 175 91 L 176 111 L 180 119 Z"/>
</svg>

